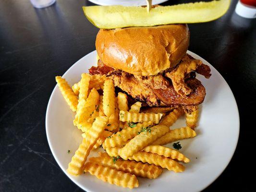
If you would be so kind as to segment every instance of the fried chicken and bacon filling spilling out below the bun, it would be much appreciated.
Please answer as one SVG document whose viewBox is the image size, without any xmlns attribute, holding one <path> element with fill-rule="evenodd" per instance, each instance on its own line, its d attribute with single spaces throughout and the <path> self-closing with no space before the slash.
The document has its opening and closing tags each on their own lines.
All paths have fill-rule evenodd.
<svg viewBox="0 0 256 192">
<path fill-rule="evenodd" d="M 196 106 L 204 101 L 205 87 L 195 78 L 195 72 L 211 76 L 209 66 L 186 54 L 173 68 L 155 76 L 138 76 L 105 65 L 98 60 L 98 66 L 89 69 L 90 74 L 106 75 L 113 79 L 135 100 L 152 106 Z M 190 110 L 190 109 L 188 109 Z M 193 107 L 192 107 L 193 110 Z"/>
</svg>

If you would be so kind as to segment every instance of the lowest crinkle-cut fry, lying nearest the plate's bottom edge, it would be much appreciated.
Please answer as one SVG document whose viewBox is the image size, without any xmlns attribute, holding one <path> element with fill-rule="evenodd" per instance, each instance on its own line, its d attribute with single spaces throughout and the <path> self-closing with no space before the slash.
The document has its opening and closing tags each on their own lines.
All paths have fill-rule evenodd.
<svg viewBox="0 0 256 192">
<path fill-rule="evenodd" d="M 91 175 L 95 175 L 98 179 L 110 184 L 115 184 L 121 187 L 128 187 L 133 189 L 139 186 L 139 181 L 135 175 L 130 173 L 124 173 L 122 171 L 98 165 L 92 162 L 85 164 L 85 172 L 89 172 Z"/>
</svg>

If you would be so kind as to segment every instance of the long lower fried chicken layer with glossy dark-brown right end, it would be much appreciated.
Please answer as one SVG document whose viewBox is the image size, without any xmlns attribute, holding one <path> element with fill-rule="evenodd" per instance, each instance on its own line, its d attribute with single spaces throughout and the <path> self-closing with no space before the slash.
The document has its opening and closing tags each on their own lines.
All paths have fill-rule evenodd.
<svg viewBox="0 0 256 192">
<path fill-rule="evenodd" d="M 183 98 L 174 90 L 173 85 L 168 85 L 165 89 L 158 88 L 125 73 L 113 73 L 110 78 L 114 80 L 115 86 L 120 87 L 133 98 L 145 101 L 149 106 L 198 105 L 204 101 L 206 94 L 204 86 L 196 79 L 186 81 L 192 92 L 187 98 Z"/>
</svg>

